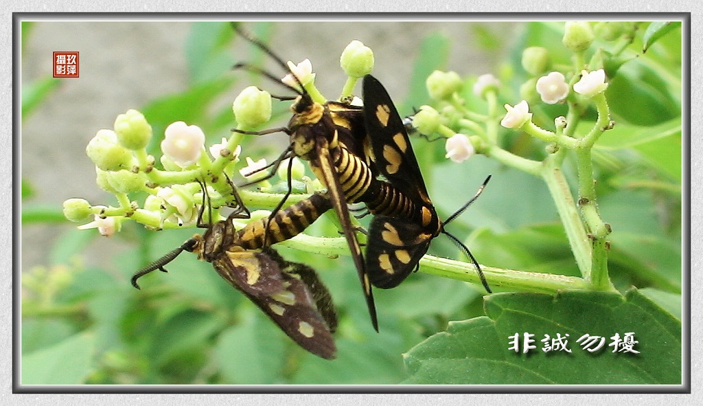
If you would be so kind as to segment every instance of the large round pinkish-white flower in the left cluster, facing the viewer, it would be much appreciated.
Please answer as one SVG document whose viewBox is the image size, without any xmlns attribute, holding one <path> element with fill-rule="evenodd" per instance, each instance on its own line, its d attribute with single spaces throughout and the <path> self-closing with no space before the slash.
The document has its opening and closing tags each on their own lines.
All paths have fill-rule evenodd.
<svg viewBox="0 0 703 406">
<path fill-rule="evenodd" d="M 161 141 L 161 151 L 176 165 L 188 167 L 200 158 L 205 133 L 197 125 L 176 121 L 166 127 L 165 135 L 164 141 Z"/>
</svg>

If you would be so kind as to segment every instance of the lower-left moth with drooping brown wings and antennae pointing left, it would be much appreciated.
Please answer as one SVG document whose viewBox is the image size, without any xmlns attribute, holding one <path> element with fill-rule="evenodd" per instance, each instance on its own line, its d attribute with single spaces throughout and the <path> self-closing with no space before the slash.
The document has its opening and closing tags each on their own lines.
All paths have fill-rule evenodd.
<svg viewBox="0 0 703 406">
<path fill-rule="evenodd" d="M 283 259 L 266 243 L 290 239 L 307 228 L 323 212 L 332 208 L 324 194 L 278 210 L 269 218 L 253 221 L 236 230 L 233 215 L 207 227 L 204 234 L 195 234 L 183 245 L 134 274 L 131 282 L 156 269 L 166 272 L 165 265 L 184 250 L 198 259 L 212 263 L 217 273 L 238 291 L 252 300 L 281 330 L 305 350 L 331 360 L 336 347 L 332 334 L 337 327 L 337 313 L 329 291 L 314 269 Z M 268 233 L 266 236 L 264 233 Z"/>
</svg>

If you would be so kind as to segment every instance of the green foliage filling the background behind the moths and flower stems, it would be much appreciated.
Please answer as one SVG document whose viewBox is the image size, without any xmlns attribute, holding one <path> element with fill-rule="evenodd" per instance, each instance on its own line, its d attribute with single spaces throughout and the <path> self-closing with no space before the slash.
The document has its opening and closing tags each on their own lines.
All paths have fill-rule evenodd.
<svg viewBox="0 0 703 406">
<path fill-rule="evenodd" d="M 527 293 L 483 298 L 477 287 L 418 273 L 391 291 L 375 291 L 381 326 L 377 334 L 368 322 L 349 258 L 281 248 L 288 260 L 318 269 L 333 293 L 341 316 L 338 359 L 327 361 L 298 348 L 194 255 L 184 253 L 169 264 L 169 274 L 144 278 L 141 291 L 129 285 L 134 270 L 179 246 L 193 230 L 153 233 L 127 224 L 121 235 L 134 255 L 115 255 L 118 274 L 75 262 L 97 234 L 75 230 L 51 250 L 46 267 L 22 276 L 22 383 L 681 383 L 681 293 L 688 289 L 681 257 L 686 218 L 681 198 L 688 189 L 681 184 L 688 179 L 682 178 L 681 151 L 683 142 L 688 143 L 681 133 L 682 32 L 681 25 L 658 25 L 658 30 L 652 25 L 641 23 L 629 46 L 638 58 L 609 72 L 607 99 L 617 125 L 594 151 L 599 209 L 613 229 L 610 275 L 624 296 L 566 292 L 557 298 Z M 554 63 L 569 63 L 560 42 L 562 26 L 527 23 L 514 42 L 496 44 L 484 25 L 474 25 L 481 44 L 510 50 L 501 68 L 501 80 L 509 85 L 501 104 L 520 100 L 517 89 L 527 80 L 520 67 L 524 47 L 545 46 Z M 652 28 L 645 31 L 647 27 Z M 276 25 L 257 23 L 252 31 L 266 39 L 276 34 Z M 155 134 L 175 120 L 198 124 L 205 134 L 231 127 L 231 107 L 215 101 L 233 97 L 233 84 L 250 77 L 225 73 L 236 60 L 262 58 L 260 53 L 251 58 L 233 55 L 231 44 L 239 40 L 227 23 L 193 23 L 186 43 L 191 86 L 141 108 Z M 446 65 L 450 45 L 441 33 L 418 39 L 408 99 L 398 101 L 401 115 L 428 102 L 425 77 Z M 607 49 L 608 44 L 592 48 L 599 46 Z M 23 89 L 23 117 L 37 108 L 41 97 L 50 96 L 52 87 L 51 81 L 42 80 Z M 477 103 L 475 109 L 484 113 L 483 107 Z M 561 105 L 532 108 L 536 122 L 545 119 L 537 122 L 544 127 L 565 114 Z M 277 113 L 285 117 L 286 111 L 281 106 Z M 504 132 L 504 148 L 522 156 L 543 154 L 540 142 Z M 158 141 L 155 137 L 150 153 L 157 155 Z M 207 144 L 217 141 L 208 139 Z M 413 144 L 441 217 L 470 198 L 486 175 L 493 175 L 481 198 L 449 227 L 452 234 L 465 237 L 479 262 L 578 274 L 540 179 L 482 156 L 462 164 L 447 162 L 441 142 L 418 137 Z M 244 148 L 250 156 L 278 153 L 270 146 Z M 567 160 L 570 179 L 573 169 Z M 22 182 L 22 198 L 29 198 L 31 190 L 31 179 Z M 24 225 L 57 220 L 30 208 L 23 207 Z M 51 210 L 60 213 L 60 208 Z M 318 223 L 311 232 L 335 232 L 327 220 Z M 460 258 L 447 239 L 434 241 L 430 253 Z M 449 321 L 456 322 L 437 334 Z M 538 340 L 543 334 L 570 333 L 574 355 L 510 353 L 508 336 L 526 331 Z M 610 337 L 629 331 L 640 341 L 636 357 L 608 350 L 592 355 L 576 348 L 582 334 Z"/>
</svg>

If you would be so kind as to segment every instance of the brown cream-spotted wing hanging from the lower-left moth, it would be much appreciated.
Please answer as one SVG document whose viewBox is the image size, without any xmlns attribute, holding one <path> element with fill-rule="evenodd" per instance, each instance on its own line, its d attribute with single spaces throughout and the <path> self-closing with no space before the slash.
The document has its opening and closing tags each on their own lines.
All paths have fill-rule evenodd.
<svg viewBox="0 0 703 406">
<path fill-rule="evenodd" d="M 298 345 L 327 360 L 335 358 L 337 314 L 313 269 L 284 260 L 273 248 L 228 250 L 212 264 Z"/>
</svg>

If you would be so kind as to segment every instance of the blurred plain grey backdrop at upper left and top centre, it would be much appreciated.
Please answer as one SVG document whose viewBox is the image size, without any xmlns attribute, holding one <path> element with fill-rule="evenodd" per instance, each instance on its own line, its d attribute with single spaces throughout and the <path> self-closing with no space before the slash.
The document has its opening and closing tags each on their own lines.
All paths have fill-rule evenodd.
<svg viewBox="0 0 703 406">
<path fill-rule="evenodd" d="M 318 89 L 335 98 L 345 80 L 339 68 L 340 53 L 352 39 L 359 39 L 374 51 L 375 77 L 394 99 L 404 100 L 411 62 L 426 34 L 442 30 L 451 38 L 448 70 L 481 75 L 496 72 L 496 63 L 507 49 L 486 50 L 477 44 L 476 33 L 505 43 L 519 27 L 519 23 L 450 20 L 285 22 L 277 24 L 271 47 L 286 60 L 310 58 L 318 72 Z M 98 129 L 112 128 L 118 114 L 186 89 L 183 47 L 190 28 L 191 23 L 184 21 L 37 23 L 23 44 L 22 84 L 51 75 L 53 51 L 79 51 L 80 77 L 63 79 L 60 88 L 22 123 L 21 175 L 35 191 L 25 203 L 60 208 L 72 197 L 86 198 L 92 204 L 112 203 L 111 196 L 95 184 L 94 166 L 85 155 L 85 146 Z M 243 46 L 236 42 L 233 54 L 243 51 Z M 232 100 L 239 90 L 231 95 Z M 275 86 L 269 90 L 278 91 Z M 49 247 L 76 225 L 66 221 L 22 227 L 22 269 L 46 265 Z M 128 250 L 115 237 L 96 239 L 86 250 L 86 260 L 100 262 L 103 255 Z"/>
</svg>

